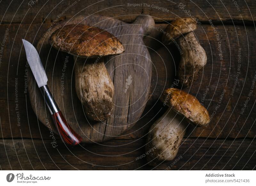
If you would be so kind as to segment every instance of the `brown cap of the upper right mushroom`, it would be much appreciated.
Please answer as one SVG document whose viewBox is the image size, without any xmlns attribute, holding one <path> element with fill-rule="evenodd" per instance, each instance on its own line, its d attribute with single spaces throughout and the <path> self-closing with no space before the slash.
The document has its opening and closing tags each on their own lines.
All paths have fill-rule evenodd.
<svg viewBox="0 0 256 186">
<path fill-rule="evenodd" d="M 172 21 L 170 25 L 165 28 L 165 34 L 162 35 L 162 42 L 166 45 L 172 43 L 172 39 L 176 39 L 183 34 L 196 30 L 197 23 L 191 18 L 179 18 Z"/>
</svg>

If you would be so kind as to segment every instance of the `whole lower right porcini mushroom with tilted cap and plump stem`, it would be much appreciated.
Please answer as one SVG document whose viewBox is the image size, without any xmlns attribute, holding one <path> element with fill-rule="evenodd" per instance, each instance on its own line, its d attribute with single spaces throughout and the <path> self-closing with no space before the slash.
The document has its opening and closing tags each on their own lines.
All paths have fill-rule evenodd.
<svg viewBox="0 0 256 186">
<path fill-rule="evenodd" d="M 210 122 L 198 99 L 180 89 L 166 89 L 160 99 L 169 109 L 149 129 L 146 152 L 151 165 L 176 157 L 189 122 L 198 127 Z"/>
</svg>

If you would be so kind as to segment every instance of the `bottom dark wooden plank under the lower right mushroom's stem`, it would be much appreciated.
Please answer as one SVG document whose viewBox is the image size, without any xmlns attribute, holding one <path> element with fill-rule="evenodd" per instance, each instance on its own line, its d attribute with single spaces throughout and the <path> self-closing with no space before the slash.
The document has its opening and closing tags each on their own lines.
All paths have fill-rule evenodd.
<svg viewBox="0 0 256 186">
<path fill-rule="evenodd" d="M 256 141 L 253 139 L 185 139 L 178 152 L 178 162 L 164 162 L 157 167 L 147 165 L 144 139 L 110 140 L 102 144 L 84 144 L 77 147 L 66 147 L 57 140 L 56 148 L 51 143 L 52 140 L 40 139 L 1 140 L 1 169 L 252 170 L 256 164 Z"/>
</svg>

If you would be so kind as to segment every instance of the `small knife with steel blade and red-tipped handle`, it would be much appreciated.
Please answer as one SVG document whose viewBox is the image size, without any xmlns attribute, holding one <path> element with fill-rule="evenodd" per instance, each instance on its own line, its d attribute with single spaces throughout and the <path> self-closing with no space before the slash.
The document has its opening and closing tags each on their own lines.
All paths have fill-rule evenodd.
<svg viewBox="0 0 256 186">
<path fill-rule="evenodd" d="M 79 144 L 82 141 L 81 136 L 76 134 L 76 132 L 68 125 L 47 86 L 48 79 L 36 48 L 24 39 L 22 39 L 22 42 L 25 47 L 28 64 L 44 97 L 44 101 L 52 115 L 52 119 L 59 131 L 62 141 L 70 145 Z"/>
</svg>

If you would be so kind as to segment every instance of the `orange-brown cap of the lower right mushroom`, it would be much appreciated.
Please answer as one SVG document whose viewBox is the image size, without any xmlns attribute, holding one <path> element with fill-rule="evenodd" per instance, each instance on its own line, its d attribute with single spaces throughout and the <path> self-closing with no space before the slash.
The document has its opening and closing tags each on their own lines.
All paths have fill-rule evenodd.
<svg viewBox="0 0 256 186">
<path fill-rule="evenodd" d="M 208 111 L 198 99 L 180 89 L 166 89 L 160 99 L 173 111 L 184 115 L 197 126 L 204 126 L 210 122 Z"/>
</svg>

